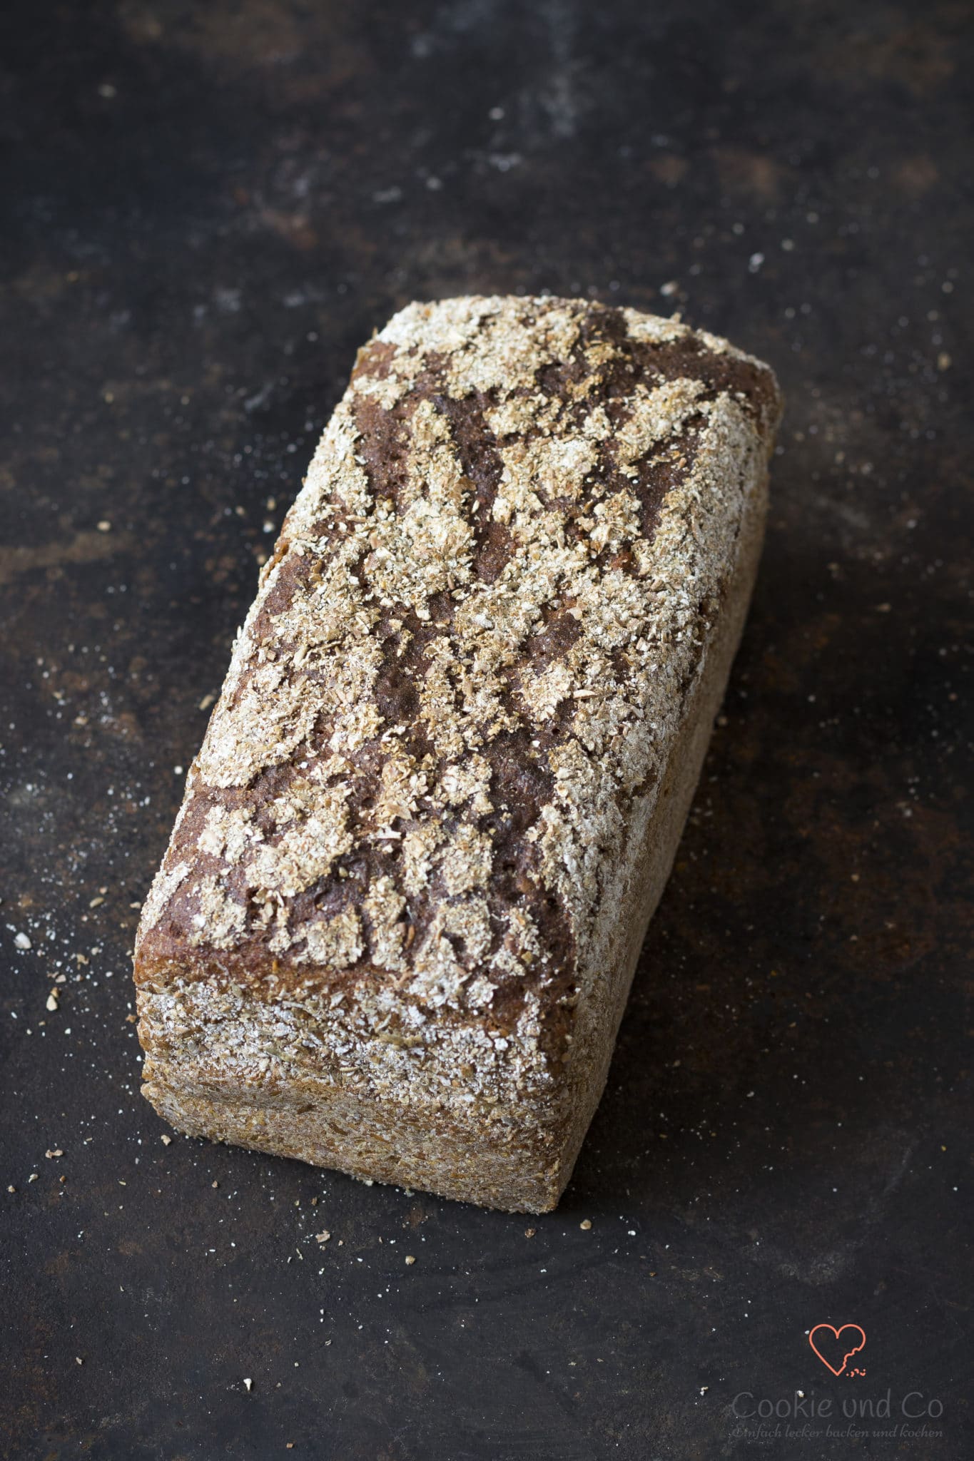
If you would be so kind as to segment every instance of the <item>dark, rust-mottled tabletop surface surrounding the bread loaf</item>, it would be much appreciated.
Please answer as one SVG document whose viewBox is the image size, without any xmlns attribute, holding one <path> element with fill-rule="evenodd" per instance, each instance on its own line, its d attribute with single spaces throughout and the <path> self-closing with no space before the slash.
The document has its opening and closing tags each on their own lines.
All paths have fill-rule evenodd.
<svg viewBox="0 0 974 1461">
<path fill-rule="evenodd" d="M 3 1454 L 974 1454 L 970 7 L 0 26 Z M 355 348 L 472 291 L 680 308 L 789 397 L 724 716 L 542 1218 L 166 1145 L 131 1023 L 180 768 Z M 863 1327 L 864 1376 L 821 1322 Z M 796 1388 L 892 1414 L 736 1433 L 737 1392 Z M 910 1392 L 930 1433 L 869 1433 Z"/>
</svg>

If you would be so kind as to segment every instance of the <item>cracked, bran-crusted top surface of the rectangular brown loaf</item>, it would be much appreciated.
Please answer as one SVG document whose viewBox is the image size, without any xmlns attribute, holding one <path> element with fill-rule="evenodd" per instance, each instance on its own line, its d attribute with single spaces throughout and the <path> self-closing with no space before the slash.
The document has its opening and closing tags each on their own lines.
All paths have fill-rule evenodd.
<svg viewBox="0 0 974 1461">
<path fill-rule="evenodd" d="M 499 1030 L 570 998 L 778 413 L 768 367 L 675 320 L 396 314 L 261 573 L 136 976 Z"/>
</svg>

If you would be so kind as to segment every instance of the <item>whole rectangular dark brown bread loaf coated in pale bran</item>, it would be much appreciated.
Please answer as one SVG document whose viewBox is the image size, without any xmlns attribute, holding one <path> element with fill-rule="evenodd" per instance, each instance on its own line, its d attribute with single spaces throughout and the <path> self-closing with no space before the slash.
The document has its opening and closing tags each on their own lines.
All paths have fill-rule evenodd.
<svg viewBox="0 0 974 1461">
<path fill-rule="evenodd" d="M 194 1135 L 555 1207 L 737 646 L 768 367 L 586 300 L 412 304 L 288 513 L 136 945 Z"/>
</svg>

